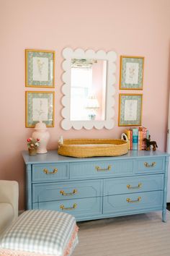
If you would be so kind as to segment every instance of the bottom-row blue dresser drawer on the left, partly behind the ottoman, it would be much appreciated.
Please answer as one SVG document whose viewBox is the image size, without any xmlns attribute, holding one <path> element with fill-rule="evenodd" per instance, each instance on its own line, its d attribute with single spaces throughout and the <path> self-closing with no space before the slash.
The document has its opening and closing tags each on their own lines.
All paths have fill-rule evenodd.
<svg viewBox="0 0 170 256">
<path fill-rule="evenodd" d="M 97 216 L 102 214 L 102 197 L 90 197 L 75 200 L 33 203 L 33 209 L 58 210 L 75 217 Z"/>
</svg>

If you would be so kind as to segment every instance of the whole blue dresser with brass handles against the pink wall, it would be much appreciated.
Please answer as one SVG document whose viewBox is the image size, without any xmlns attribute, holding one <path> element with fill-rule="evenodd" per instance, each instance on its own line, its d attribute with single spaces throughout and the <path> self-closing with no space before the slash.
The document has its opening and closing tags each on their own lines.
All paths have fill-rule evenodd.
<svg viewBox="0 0 170 256">
<path fill-rule="evenodd" d="M 166 221 L 169 154 L 132 150 L 119 157 L 22 153 L 27 209 L 71 213 L 77 221 L 161 210 Z"/>
</svg>

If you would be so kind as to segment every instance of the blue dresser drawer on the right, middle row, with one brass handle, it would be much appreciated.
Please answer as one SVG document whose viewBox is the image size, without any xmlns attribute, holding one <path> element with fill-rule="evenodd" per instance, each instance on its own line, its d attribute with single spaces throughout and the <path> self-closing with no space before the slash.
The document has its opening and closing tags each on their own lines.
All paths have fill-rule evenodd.
<svg viewBox="0 0 170 256">
<path fill-rule="evenodd" d="M 164 174 L 105 179 L 104 196 L 163 190 Z"/>
</svg>

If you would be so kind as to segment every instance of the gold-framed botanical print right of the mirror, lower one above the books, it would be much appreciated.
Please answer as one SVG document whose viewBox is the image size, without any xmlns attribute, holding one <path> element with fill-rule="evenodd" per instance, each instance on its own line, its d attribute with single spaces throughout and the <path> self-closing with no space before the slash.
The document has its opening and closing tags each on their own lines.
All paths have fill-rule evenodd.
<svg viewBox="0 0 170 256">
<path fill-rule="evenodd" d="M 119 126 L 140 126 L 142 122 L 142 94 L 120 94 Z"/>
</svg>

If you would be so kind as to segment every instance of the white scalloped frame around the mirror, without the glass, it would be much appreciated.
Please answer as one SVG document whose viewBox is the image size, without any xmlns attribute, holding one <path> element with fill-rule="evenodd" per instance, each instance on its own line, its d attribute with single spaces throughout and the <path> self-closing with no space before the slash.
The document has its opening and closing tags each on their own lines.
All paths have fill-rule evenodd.
<svg viewBox="0 0 170 256">
<path fill-rule="evenodd" d="M 117 54 L 115 51 L 84 51 L 81 48 L 73 50 L 72 48 L 63 49 L 63 87 L 62 93 L 63 98 L 61 100 L 63 104 L 63 110 L 61 112 L 63 120 L 61 121 L 61 127 L 65 130 L 71 129 L 112 129 L 115 126 L 115 72 Z M 71 59 L 99 59 L 107 61 L 107 85 L 106 85 L 106 106 L 105 106 L 105 120 L 82 120 L 82 121 L 71 121 L 70 120 L 70 103 L 71 103 Z"/>
</svg>

